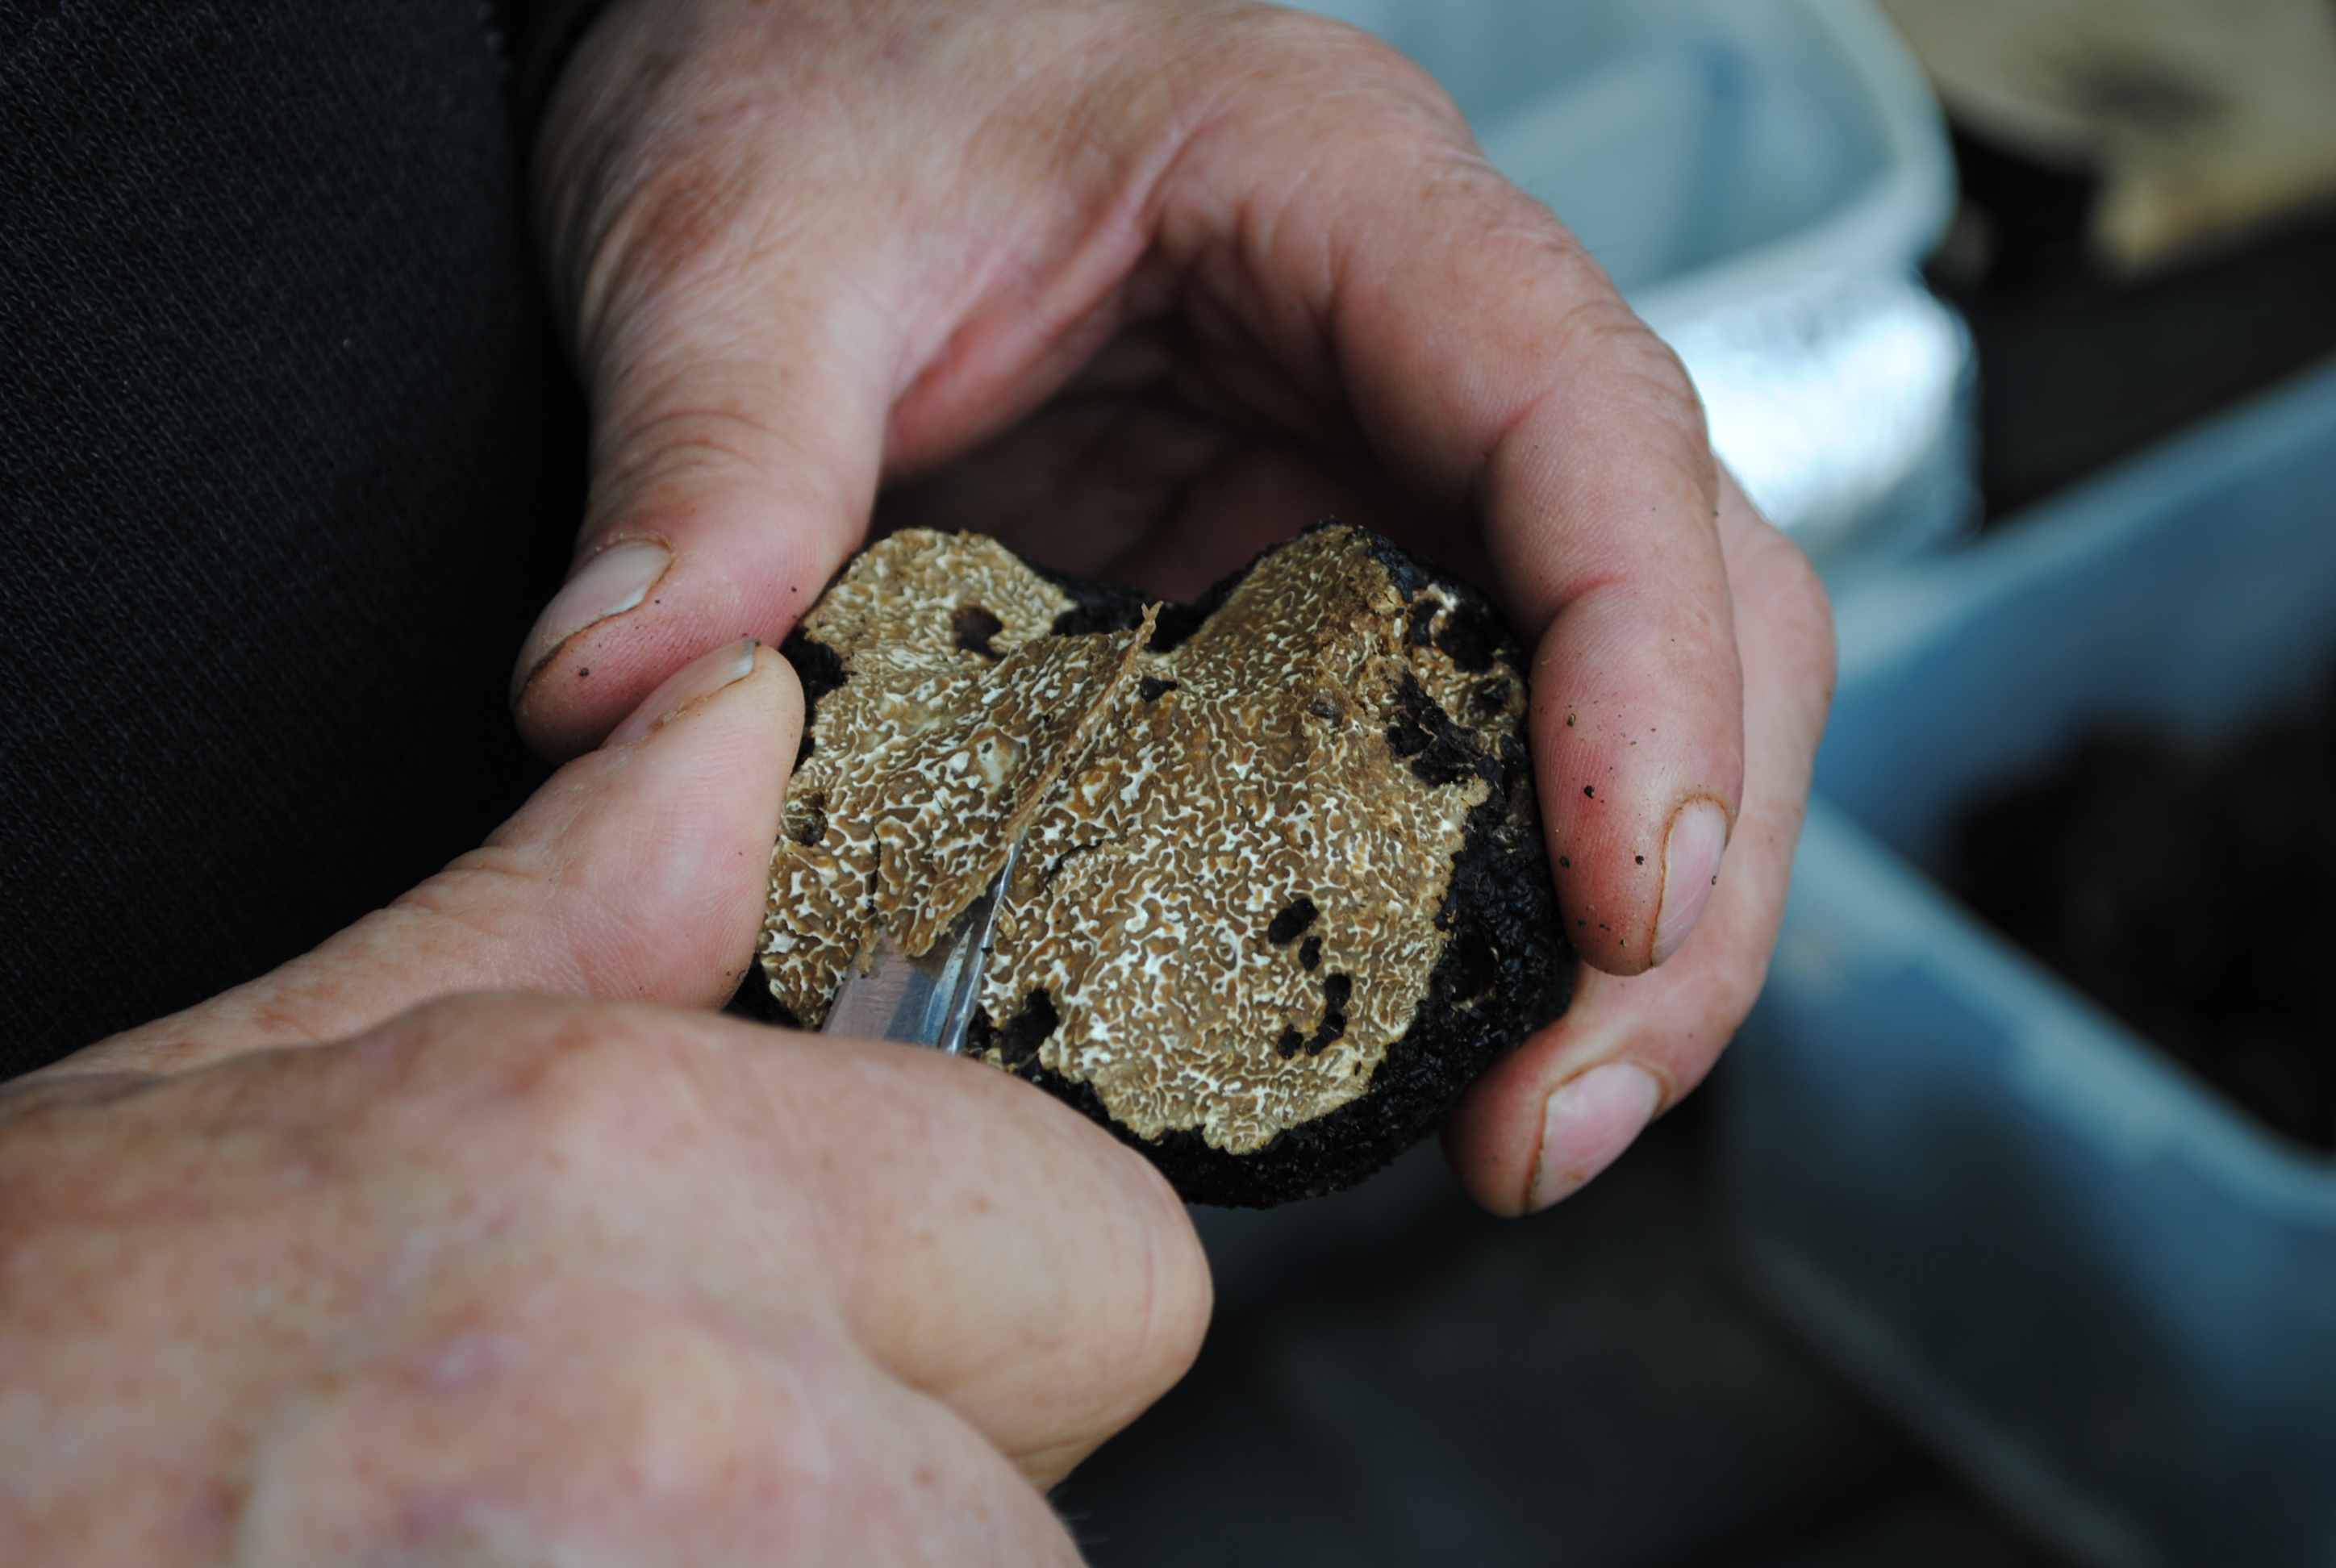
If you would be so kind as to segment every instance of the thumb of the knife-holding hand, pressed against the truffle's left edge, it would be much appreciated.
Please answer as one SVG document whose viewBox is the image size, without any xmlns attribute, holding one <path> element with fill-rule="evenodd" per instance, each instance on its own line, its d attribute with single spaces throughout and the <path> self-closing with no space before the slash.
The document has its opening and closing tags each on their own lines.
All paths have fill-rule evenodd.
<svg viewBox="0 0 2336 1568">
<path fill-rule="evenodd" d="M 752 963 L 801 724 L 785 659 L 719 647 L 484 848 L 313 953 L 51 1073 L 175 1073 L 346 1038 L 458 991 L 717 1005 Z"/>
</svg>

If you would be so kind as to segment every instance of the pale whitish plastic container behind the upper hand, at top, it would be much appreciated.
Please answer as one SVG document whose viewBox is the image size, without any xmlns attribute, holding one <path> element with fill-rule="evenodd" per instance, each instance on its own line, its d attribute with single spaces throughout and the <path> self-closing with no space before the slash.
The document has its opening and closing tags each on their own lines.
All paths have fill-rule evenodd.
<svg viewBox="0 0 2336 1568">
<path fill-rule="evenodd" d="M 1974 509 L 1937 103 L 1864 0 L 1318 0 L 1437 75 L 1680 351 L 1712 444 L 1820 563 Z"/>
</svg>

